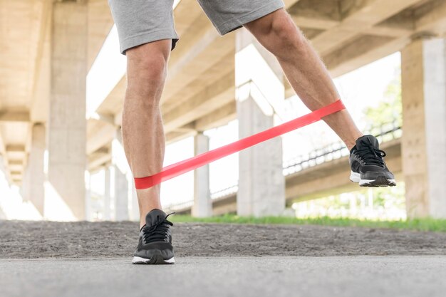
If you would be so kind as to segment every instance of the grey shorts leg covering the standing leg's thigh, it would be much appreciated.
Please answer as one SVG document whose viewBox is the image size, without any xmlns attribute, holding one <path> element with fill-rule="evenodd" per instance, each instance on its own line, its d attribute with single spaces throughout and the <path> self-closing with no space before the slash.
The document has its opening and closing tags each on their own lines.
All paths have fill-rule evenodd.
<svg viewBox="0 0 446 297">
<path fill-rule="evenodd" d="M 178 39 L 173 21 L 173 0 L 108 0 L 118 29 L 120 51 L 152 41 Z"/>
</svg>

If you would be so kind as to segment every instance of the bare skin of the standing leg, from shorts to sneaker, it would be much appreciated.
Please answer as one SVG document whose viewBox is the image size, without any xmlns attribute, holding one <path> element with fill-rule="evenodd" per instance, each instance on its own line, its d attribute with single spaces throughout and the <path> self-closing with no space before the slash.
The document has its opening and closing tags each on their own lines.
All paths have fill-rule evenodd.
<svg viewBox="0 0 446 297">
<path fill-rule="evenodd" d="M 134 177 L 147 177 L 162 169 L 165 136 L 160 98 L 167 74 L 170 40 L 155 41 L 126 52 L 128 86 L 123 110 L 125 156 Z M 160 185 L 139 189 L 140 226 L 152 209 L 161 209 Z"/>
</svg>

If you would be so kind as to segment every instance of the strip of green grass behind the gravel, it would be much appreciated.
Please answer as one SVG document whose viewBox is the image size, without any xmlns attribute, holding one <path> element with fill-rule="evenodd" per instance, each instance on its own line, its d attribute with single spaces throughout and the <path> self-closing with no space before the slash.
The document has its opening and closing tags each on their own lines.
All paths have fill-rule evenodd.
<svg viewBox="0 0 446 297">
<path fill-rule="evenodd" d="M 367 228 L 408 229 L 417 231 L 446 232 L 446 219 L 410 219 L 407 221 L 371 221 L 361 219 L 345 219 L 318 217 L 311 219 L 296 219 L 293 217 L 238 217 L 224 215 L 210 218 L 194 218 L 186 215 L 172 216 L 172 222 L 202 222 L 202 223 L 231 223 L 231 224 L 296 224 L 321 226 L 355 226 Z"/>
</svg>

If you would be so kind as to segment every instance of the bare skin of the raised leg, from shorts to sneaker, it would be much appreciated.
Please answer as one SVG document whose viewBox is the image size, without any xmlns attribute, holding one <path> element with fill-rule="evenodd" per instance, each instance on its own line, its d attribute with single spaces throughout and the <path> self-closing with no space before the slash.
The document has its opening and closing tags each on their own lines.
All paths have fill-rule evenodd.
<svg viewBox="0 0 446 297">
<path fill-rule="evenodd" d="M 309 109 L 316 110 L 340 99 L 321 58 L 284 9 L 252 21 L 245 27 L 276 56 L 289 83 Z M 349 150 L 363 136 L 347 110 L 328 115 L 323 120 Z"/>
</svg>

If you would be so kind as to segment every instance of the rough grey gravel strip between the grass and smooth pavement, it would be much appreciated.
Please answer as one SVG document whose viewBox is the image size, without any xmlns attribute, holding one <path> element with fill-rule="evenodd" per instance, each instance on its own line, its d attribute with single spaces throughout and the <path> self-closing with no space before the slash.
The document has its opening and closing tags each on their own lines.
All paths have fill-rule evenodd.
<svg viewBox="0 0 446 297">
<path fill-rule="evenodd" d="M 311 225 L 176 223 L 175 256 L 446 255 L 446 233 Z M 0 221 L 0 259 L 131 256 L 135 222 Z"/>
</svg>

